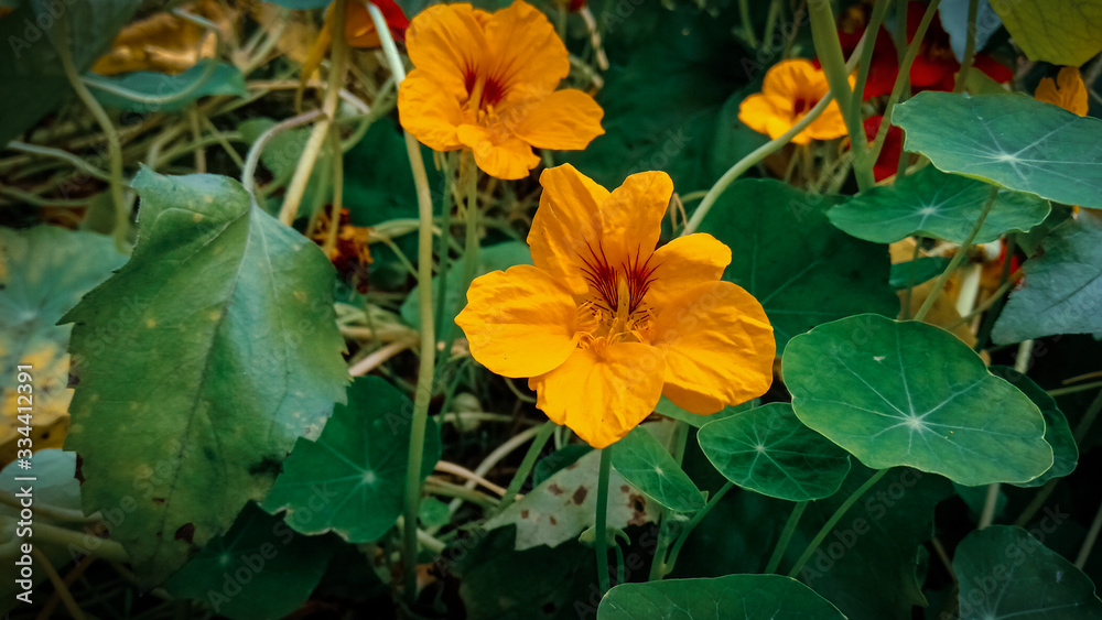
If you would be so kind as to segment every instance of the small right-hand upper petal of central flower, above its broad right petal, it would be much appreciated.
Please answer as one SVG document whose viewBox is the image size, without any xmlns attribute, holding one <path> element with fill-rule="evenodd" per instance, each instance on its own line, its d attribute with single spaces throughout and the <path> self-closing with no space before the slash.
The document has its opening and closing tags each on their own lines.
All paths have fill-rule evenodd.
<svg viewBox="0 0 1102 620">
<path fill-rule="evenodd" d="M 722 278 L 731 264 L 731 248 L 706 232 L 696 232 L 659 248 L 650 264 L 657 267 L 646 301 L 661 311 L 698 285 Z"/>
</svg>

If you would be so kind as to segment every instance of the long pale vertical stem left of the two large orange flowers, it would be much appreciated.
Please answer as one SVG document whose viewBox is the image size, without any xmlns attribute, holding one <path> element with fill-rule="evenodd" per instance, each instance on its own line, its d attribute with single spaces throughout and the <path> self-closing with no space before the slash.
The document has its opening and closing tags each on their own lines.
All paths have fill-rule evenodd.
<svg viewBox="0 0 1102 620">
<path fill-rule="evenodd" d="M 338 7 L 339 8 L 339 7 Z M 367 11 L 371 14 L 375 29 L 379 33 L 382 51 L 390 65 L 395 83 L 406 79 L 406 67 L 398 55 L 398 47 L 390 36 L 390 26 L 382 12 L 368 2 Z M 344 28 L 336 29 L 337 39 Z M 421 160 L 421 145 L 410 135 L 406 135 L 406 150 L 410 157 L 410 168 L 417 185 L 418 215 L 421 227 L 418 230 L 418 281 L 421 284 L 419 315 L 421 317 L 421 366 L 418 370 L 417 392 L 413 398 L 413 420 L 410 428 L 410 452 L 406 470 L 406 522 L 417 523 L 418 510 L 421 504 L 421 460 L 424 454 L 425 425 L 429 423 L 429 401 L 432 399 L 433 369 L 436 362 L 436 335 L 432 324 L 432 192 L 429 189 L 429 176 Z M 402 557 L 406 568 L 406 599 L 412 603 L 417 599 L 417 527 L 407 527 L 404 532 L 404 548 Z"/>
</svg>

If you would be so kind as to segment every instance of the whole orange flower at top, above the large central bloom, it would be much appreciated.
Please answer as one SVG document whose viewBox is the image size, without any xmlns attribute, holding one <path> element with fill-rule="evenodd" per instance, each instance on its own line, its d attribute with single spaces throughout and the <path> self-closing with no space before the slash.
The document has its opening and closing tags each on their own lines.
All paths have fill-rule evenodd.
<svg viewBox="0 0 1102 620">
<path fill-rule="evenodd" d="M 402 127 L 436 151 L 468 148 L 498 178 L 521 178 L 538 149 L 584 149 L 604 111 L 581 90 L 555 88 L 570 73 L 551 22 L 517 0 L 496 13 L 436 4 L 406 39 L 415 69 L 398 91 Z"/>
</svg>

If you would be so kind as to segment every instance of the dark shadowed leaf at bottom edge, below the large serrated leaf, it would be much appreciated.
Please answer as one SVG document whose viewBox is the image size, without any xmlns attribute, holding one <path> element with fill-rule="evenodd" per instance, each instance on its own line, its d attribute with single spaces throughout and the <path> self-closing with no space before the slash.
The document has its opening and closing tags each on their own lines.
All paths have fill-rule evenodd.
<svg viewBox="0 0 1102 620">
<path fill-rule="evenodd" d="M 334 542 L 295 535 L 282 519 L 250 503 L 229 532 L 210 541 L 164 587 L 231 620 L 282 618 L 317 587 Z"/>
</svg>

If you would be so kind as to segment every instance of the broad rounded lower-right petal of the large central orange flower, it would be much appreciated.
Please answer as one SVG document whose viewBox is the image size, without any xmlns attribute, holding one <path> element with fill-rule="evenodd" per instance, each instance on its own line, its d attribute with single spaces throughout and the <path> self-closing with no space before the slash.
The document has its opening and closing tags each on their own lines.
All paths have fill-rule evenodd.
<svg viewBox="0 0 1102 620">
<path fill-rule="evenodd" d="M 685 411 L 715 413 L 773 383 L 773 327 L 761 304 L 731 282 L 700 284 L 661 308 L 652 337 L 666 351 L 666 395 Z"/>
</svg>

